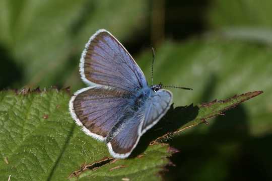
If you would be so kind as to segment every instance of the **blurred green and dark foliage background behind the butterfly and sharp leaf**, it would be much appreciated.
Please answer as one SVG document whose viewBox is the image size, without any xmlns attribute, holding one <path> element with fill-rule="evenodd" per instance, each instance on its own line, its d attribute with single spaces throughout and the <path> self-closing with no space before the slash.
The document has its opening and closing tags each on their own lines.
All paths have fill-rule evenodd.
<svg viewBox="0 0 272 181">
<path fill-rule="evenodd" d="M 84 87 L 79 59 L 110 31 L 175 106 L 264 94 L 170 140 L 165 180 L 272 180 L 272 1 L 0 1 L 0 88 Z M 182 119 L 182 118 L 180 118 Z M 177 120 L 178 121 L 178 120 Z"/>
</svg>

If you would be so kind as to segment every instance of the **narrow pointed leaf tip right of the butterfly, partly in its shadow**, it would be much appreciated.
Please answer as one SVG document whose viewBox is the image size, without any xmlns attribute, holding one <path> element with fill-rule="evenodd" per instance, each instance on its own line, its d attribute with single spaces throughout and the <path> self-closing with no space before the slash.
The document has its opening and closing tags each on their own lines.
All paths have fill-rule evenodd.
<svg viewBox="0 0 272 181">
<path fill-rule="evenodd" d="M 203 103 L 196 106 L 190 105 L 185 107 L 176 107 L 175 109 L 172 107 L 165 116 L 166 121 L 159 123 L 157 126 L 161 128 L 159 134 L 162 134 L 163 132 L 166 133 L 163 136 L 158 136 L 154 142 L 168 138 L 171 134 L 177 136 L 180 132 L 201 123 L 209 124 L 209 122 L 207 122 L 208 119 L 219 115 L 225 115 L 225 111 L 235 108 L 240 103 L 262 93 L 262 91 L 256 91 L 234 96 L 226 100 L 214 100 L 210 103 Z M 170 127 L 172 127 L 173 132 L 169 132 Z M 154 133 L 152 134 L 154 135 Z"/>
</svg>

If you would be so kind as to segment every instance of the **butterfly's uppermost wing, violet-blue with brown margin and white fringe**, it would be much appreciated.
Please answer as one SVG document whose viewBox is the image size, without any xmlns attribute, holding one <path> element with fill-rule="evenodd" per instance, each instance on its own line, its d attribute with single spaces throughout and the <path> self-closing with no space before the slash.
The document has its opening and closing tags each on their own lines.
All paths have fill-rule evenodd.
<svg viewBox="0 0 272 181">
<path fill-rule="evenodd" d="M 144 73 L 131 55 L 106 30 L 97 31 L 86 44 L 80 73 L 89 85 L 95 83 L 131 91 L 147 84 Z"/>
</svg>

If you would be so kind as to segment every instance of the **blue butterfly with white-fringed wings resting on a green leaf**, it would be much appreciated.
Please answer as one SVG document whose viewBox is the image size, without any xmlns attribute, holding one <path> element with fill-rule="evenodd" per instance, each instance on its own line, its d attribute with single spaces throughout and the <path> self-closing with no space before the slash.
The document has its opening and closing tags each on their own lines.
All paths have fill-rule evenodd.
<svg viewBox="0 0 272 181">
<path fill-rule="evenodd" d="M 87 135 L 104 141 L 115 158 L 129 156 L 173 99 L 162 84 L 149 86 L 131 55 L 103 29 L 86 44 L 80 74 L 89 86 L 71 98 L 70 113 Z"/>
</svg>

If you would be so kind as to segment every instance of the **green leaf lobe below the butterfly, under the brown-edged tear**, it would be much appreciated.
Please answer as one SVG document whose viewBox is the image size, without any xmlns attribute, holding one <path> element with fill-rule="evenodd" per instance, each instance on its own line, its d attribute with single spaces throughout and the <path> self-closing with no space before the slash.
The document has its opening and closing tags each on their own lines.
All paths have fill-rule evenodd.
<svg viewBox="0 0 272 181">
<path fill-rule="evenodd" d="M 171 155 L 171 149 L 167 144 L 150 146 L 144 154 L 129 159 L 113 159 L 109 164 L 86 170 L 80 170 L 78 177 L 71 175 L 72 180 L 158 180 L 159 171 L 164 165 L 169 164 L 166 156 Z"/>
</svg>

